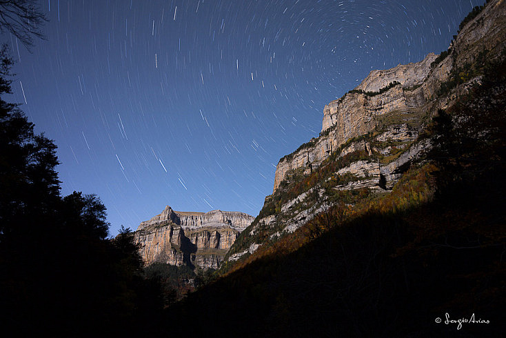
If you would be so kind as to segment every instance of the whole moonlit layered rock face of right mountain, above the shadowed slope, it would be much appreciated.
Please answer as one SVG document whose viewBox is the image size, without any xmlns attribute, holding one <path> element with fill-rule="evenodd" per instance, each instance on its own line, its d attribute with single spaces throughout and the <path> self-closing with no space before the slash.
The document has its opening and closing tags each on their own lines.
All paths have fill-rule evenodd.
<svg viewBox="0 0 506 338">
<path fill-rule="evenodd" d="M 489 1 L 465 22 L 446 52 L 373 70 L 325 106 L 319 137 L 279 161 L 272 195 L 228 261 L 254 255 L 265 238 L 294 232 L 330 206 L 344 203 L 345 210 L 361 194 L 389 194 L 408 168 L 422 163 L 432 148 L 432 117 L 468 97 L 506 57 L 506 0 Z"/>
</svg>

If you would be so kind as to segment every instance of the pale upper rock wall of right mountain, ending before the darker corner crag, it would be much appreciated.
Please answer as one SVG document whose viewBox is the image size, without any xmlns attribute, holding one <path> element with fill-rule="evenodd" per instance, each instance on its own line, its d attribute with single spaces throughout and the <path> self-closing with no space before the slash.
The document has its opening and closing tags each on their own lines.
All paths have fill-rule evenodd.
<svg viewBox="0 0 506 338">
<path fill-rule="evenodd" d="M 416 113 L 423 109 L 429 97 L 422 85 L 434 59 L 436 55 L 431 53 L 418 63 L 400 65 L 390 70 L 374 70 L 354 90 L 328 103 L 323 109 L 321 136 L 313 139 L 306 148 L 279 161 L 274 177 L 274 192 L 290 170 L 310 166 L 314 169 L 347 140 L 372 132 L 381 123 L 378 117 L 389 113 Z M 398 84 L 381 92 L 394 81 Z M 434 90 L 429 90 L 429 94 Z M 417 128 L 413 128 L 412 132 L 417 132 Z"/>
</svg>

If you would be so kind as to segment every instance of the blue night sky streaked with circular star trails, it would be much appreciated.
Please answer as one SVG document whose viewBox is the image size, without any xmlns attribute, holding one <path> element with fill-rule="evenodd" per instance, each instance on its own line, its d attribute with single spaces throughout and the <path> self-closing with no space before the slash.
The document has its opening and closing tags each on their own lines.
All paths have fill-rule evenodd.
<svg viewBox="0 0 506 338">
<path fill-rule="evenodd" d="M 258 215 L 276 164 L 373 69 L 446 50 L 484 0 L 41 1 L 10 101 L 57 144 L 62 195 L 99 195 L 110 235 L 165 205 Z"/>
</svg>

